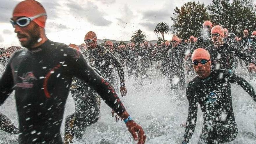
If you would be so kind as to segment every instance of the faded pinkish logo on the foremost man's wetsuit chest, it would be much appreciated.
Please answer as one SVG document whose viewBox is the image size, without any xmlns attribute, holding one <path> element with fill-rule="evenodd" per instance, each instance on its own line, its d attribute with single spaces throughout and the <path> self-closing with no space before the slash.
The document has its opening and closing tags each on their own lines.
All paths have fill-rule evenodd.
<svg viewBox="0 0 256 144">
<path fill-rule="evenodd" d="M 26 74 L 23 74 L 22 77 L 19 76 L 19 78 L 22 80 L 22 83 L 17 83 L 17 87 L 21 88 L 33 88 L 33 80 L 37 80 L 33 72 L 27 72 Z"/>
</svg>

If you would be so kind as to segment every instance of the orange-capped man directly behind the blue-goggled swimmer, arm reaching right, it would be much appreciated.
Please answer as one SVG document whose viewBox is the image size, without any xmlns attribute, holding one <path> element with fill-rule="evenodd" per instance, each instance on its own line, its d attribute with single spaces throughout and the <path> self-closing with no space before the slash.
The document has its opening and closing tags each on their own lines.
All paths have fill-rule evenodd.
<svg viewBox="0 0 256 144">
<path fill-rule="evenodd" d="M 241 51 L 237 47 L 224 42 L 224 30 L 217 25 L 211 29 L 211 39 L 214 45 L 206 47 L 211 54 L 211 65 L 216 69 L 233 69 L 235 57 L 241 58 L 249 63 L 248 70 L 255 71 L 255 58 Z"/>
</svg>

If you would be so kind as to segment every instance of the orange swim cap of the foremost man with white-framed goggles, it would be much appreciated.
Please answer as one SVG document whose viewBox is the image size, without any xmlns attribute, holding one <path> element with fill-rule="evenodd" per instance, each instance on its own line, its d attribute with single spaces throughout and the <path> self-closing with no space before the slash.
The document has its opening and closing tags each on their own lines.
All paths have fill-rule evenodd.
<svg viewBox="0 0 256 144">
<path fill-rule="evenodd" d="M 13 10 L 13 17 L 33 17 L 40 14 L 46 14 L 45 8 L 41 3 L 35 0 L 26 0 L 17 4 Z M 45 27 L 46 16 L 41 16 L 33 21 L 41 27 Z"/>
</svg>

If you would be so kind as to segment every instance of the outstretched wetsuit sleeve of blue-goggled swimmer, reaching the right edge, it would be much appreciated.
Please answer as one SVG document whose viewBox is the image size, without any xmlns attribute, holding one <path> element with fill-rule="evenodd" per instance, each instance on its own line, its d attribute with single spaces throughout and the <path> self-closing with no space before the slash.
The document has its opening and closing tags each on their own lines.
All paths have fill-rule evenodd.
<svg viewBox="0 0 256 144">
<path fill-rule="evenodd" d="M 256 102 L 256 93 L 253 89 L 253 86 L 250 85 L 245 79 L 242 77 L 234 74 L 231 70 L 228 71 L 229 76 L 229 82 L 230 83 L 237 83 L 239 86 L 241 86 Z"/>
</svg>

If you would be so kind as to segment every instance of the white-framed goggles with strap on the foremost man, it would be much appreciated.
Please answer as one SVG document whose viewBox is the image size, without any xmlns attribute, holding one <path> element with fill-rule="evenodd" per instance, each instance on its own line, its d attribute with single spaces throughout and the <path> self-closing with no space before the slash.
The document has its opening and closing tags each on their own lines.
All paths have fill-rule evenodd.
<svg viewBox="0 0 256 144">
<path fill-rule="evenodd" d="M 36 19 L 38 17 L 42 17 L 42 16 L 46 16 L 46 13 L 41 13 L 39 15 L 35 15 L 33 17 L 20 17 L 18 18 L 16 21 L 10 20 L 11 24 L 13 25 L 13 28 L 15 28 L 15 25 L 19 25 L 19 26 L 27 26 L 29 25 L 29 23 L 33 20 Z"/>
</svg>

